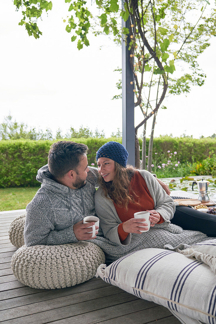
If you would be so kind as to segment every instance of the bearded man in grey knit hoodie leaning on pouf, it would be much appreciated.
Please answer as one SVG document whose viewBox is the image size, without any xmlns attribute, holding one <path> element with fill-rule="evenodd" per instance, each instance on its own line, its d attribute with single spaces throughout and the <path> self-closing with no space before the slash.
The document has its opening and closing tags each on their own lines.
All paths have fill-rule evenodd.
<svg viewBox="0 0 216 324">
<path fill-rule="evenodd" d="M 40 168 L 36 177 L 41 188 L 26 208 L 26 246 L 92 240 L 107 255 L 121 256 L 122 248 L 121 253 L 119 247 L 115 249 L 116 244 L 105 239 L 101 229 L 96 232 L 97 237 L 91 237 L 92 229 L 87 227 L 94 223 L 83 224 L 85 216 L 95 215 L 98 174 L 97 168 L 88 167 L 87 150 L 86 145 L 74 142 L 61 141 L 51 145 L 48 165 Z"/>
</svg>

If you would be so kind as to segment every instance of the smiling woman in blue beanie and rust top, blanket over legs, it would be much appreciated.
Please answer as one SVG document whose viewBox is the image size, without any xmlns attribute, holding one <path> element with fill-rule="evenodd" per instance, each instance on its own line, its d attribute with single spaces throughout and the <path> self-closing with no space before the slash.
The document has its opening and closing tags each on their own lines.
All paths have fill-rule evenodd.
<svg viewBox="0 0 216 324">
<path fill-rule="evenodd" d="M 96 158 L 100 186 L 95 193 L 95 210 L 105 238 L 120 246 L 131 246 L 130 251 L 211 239 L 170 224 L 175 213 L 173 199 L 150 172 L 127 166 L 128 152 L 123 145 L 108 142 L 100 147 Z M 147 224 L 140 223 L 144 219 L 134 219 L 134 213 L 146 210 L 150 211 L 151 228 L 141 233 L 139 226 Z"/>
</svg>

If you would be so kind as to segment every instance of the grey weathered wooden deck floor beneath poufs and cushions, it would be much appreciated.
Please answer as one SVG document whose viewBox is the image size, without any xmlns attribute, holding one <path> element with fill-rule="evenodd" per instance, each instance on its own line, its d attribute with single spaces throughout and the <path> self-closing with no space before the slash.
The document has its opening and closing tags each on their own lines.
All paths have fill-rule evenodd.
<svg viewBox="0 0 216 324">
<path fill-rule="evenodd" d="M 21 284 L 11 270 L 16 248 L 8 229 L 17 214 L 0 213 L 0 322 L 179 324 L 167 308 L 139 299 L 93 278 L 63 289 L 34 289 Z"/>
</svg>

